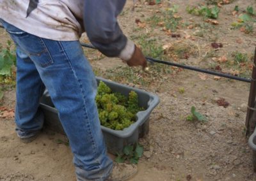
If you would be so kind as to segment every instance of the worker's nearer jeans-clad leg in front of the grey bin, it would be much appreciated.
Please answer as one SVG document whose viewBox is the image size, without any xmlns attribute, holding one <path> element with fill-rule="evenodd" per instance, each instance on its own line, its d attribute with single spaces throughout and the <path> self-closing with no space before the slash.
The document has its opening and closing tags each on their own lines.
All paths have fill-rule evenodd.
<svg viewBox="0 0 256 181">
<path fill-rule="evenodd" d="M 79 41 L 45 40 L 12 25 L 6 30 L 34 62 L 59 111 L 74 154 L 77 179 L 106 180 L 113 163 L 106 154 L 95 105 L 97 83 Z"/>
</svg>

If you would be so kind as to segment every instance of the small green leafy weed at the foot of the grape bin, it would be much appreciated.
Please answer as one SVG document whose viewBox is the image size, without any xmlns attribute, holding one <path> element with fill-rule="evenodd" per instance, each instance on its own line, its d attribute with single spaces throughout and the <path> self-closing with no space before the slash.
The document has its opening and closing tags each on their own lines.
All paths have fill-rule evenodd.
<svg viewBox="0 0 256 181">
<path fill-rule="evenodd" d="M 143 146 L 139 143 L 134 145 L 127 145 L 122 152 L 117 154 L 116 163 L 124 163 L 129 161 L 132 164 L 138 164 L 140 157 L 143 156 Z"/>
</svg>

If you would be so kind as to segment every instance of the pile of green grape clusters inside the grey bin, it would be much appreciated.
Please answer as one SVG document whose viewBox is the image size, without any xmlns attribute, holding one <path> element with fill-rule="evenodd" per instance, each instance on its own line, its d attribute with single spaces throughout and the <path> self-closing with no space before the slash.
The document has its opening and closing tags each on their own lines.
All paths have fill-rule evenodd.
<svg viewBox="0 0 256 181">
<path fill-rule="evenodd" d="M 143 110 L 138 106 L 138 94 L 129 92 L 128 98 L 120 92 L 112 92 L 100 81 L 95 98 L 100 124 L 110 129 L 123 130 L 136 121 L 136 113 Z"/>
</svg>

